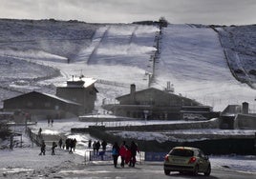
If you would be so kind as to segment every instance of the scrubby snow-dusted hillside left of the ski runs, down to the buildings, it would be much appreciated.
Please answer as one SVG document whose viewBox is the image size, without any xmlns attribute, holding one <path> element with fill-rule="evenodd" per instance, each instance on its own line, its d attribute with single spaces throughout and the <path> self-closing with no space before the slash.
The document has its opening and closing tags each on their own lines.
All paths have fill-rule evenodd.
<svg viewBox="0 0 256 179">
<path fill-rule="evenodd" d="M 48 62 L 73 59 L 81 47 L 91 44 L 98 26 L 76 21 L 0 19 L 0 107 L 2 100 L 21 92 L 54 93 L 52 83 L 38 83 L 58 73 Z M 35 60 L 41 60 L 39 65 Z"/>
</svg>

